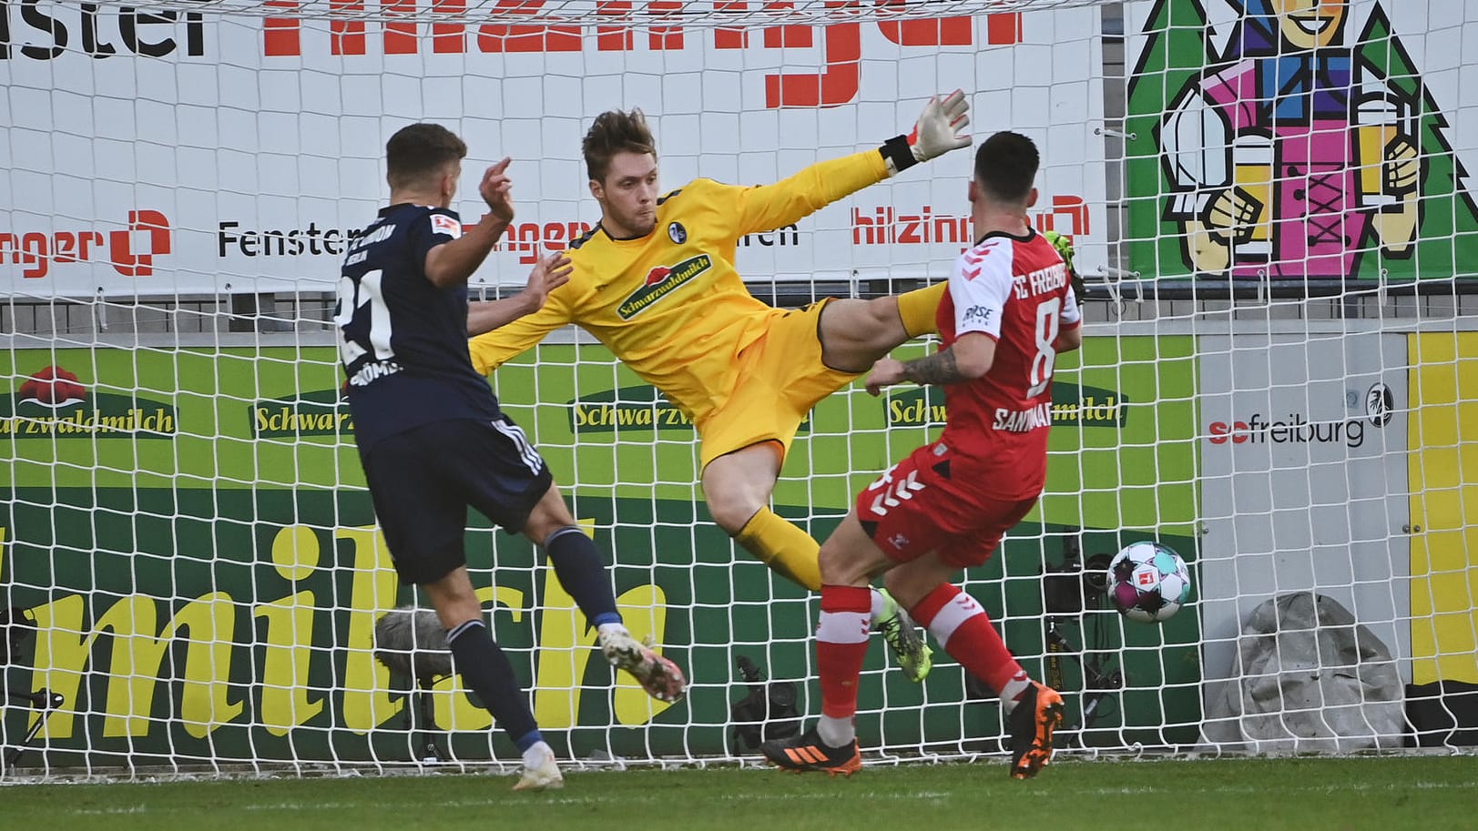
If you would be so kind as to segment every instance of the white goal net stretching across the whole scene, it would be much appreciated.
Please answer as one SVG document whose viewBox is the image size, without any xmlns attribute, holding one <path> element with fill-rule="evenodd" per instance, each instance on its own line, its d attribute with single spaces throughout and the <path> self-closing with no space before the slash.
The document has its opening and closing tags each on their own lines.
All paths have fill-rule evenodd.
<svg viewBox="0 0 1478 831">
<path fill-rule="evenodd" d="M 1463 6 L 0 0 L 0 778 L 516 759 L 458 679 L 411 695 L 374 654 L 375 620 L 426 601 L 375 527 L 331 316 L 396 128 L 467 140 L 464 201 L 514 159 L 517 217 L 471 280 L 491 298 L 599 218 L 579 142 L 603 111 L 647 114 L 664 187 L 754 185 L 907 133 L 956 87 L 977 137 L 1036 140 L 1029 220 L 1073 238 L 1086 285 L 1048 490 L 967 576 L 1067 694 L 1064 747 L 1472 744 Z M 777 306 L 939 280 L 973 242 L 970 171 L 950 154 L 745 236 L 738 267 Z M 615 677 L 542 556 L 474 515 L 473 582 L 556 750 L 752 760 L 814 717 L 816 596 L 714 525 L 687 419 L 573 329 L 492 384 L 628 626 L 692 680 L 664 706 Z M 841 390 L 776 511 L 825 539 L 941 419 L 937 390 Z M 1191 568 L 1163 623 L 1104 596 L 1137 540 Z M 868 754 L 1002 750 L 995 698 L 936 660 L 913 685 L 873 646 Z M 757 722 L 767 683 L 795 711 Z"/>
</svg>

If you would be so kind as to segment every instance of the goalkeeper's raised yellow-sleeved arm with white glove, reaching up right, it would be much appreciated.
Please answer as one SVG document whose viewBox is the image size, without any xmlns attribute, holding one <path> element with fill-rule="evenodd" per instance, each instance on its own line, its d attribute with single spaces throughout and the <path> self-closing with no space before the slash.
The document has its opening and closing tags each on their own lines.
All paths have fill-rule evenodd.
<svg viewBox="0 0 1478 831">
<path fill-rule="evenodd" d="M 955 90 L 924 105 L 907 136 L 894 136 L 876 151 L 813 164 L 774 185 L 735 187 L 739 205 L 736 236 L 788 226 L 863 187 L 896 176 L 921 161 L 968 148 L 970 102 Z"/>
</svg>

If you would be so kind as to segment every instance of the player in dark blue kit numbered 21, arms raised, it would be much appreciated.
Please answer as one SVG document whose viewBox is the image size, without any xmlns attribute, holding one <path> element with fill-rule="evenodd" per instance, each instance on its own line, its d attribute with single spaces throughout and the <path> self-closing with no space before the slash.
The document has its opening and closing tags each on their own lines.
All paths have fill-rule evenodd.
<svg viewBox="0 0 1478 831">
<path fill-rule="evenodd" d="M 557 788 L 554 753 L 467 577 L 469 506 L 544 548 L 612 666 L 662 701 L 681 698 L 687 682 L 621 623 L 600 551 L 575 524 L 538 450 L 471 368 L 467 277 L 503 236 L 513 202 L 503 159 L 479 185 L 488 213 L 464 227 L 449 205 L 466 155 L 467 145 L 437 124 L 390 137 L 390 207 L 349 248 L 334 323 L 359 459 L 395 570 L 430 598 L 463 682 L 523 751 L 514 790 Z M 541 260 L 523 292 L 479 308 L 480 325 L 537 311 L 569 270 L 563 255 Z"/>
</svg>

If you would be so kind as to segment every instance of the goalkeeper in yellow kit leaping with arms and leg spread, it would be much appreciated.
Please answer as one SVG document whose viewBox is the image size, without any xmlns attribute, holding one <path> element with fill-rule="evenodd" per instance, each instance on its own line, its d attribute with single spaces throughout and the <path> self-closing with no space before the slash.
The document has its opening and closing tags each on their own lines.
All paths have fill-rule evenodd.
<svg viewBox="0 0 1478 831">
<path fill-rule="evenodd" d="M 600 223 L 571 244 L 573 273 L 544 307 L 491 329 L 469 313 L 471 360 L 488 373 L 575 323 L 687 413 L 702 443 L 714 521 L 774 571 L 820 590 L 817 543 L 770 511 L 785 453 L 806 413 L 912 337 L 934 332 L 946 283 L 899 297 L 766 306 L 735 269 L 739 238 L 788 226 L 916 162 L 970 146 L 968 103 L 930 99 L 910 136 L 813 164 L 774 185 L 695 179 L 659 195 L 656 143 L 640 109 L 599 115 L 584 140 Z M 873 624 L 905 673 L 930 649 L 897 604 L 873 593 Z"/>
</svg>

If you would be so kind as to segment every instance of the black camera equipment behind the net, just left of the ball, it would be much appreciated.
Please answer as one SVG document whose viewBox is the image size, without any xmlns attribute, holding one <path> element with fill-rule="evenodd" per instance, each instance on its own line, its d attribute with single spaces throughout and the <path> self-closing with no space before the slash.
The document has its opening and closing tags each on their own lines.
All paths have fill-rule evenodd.
<svg viewBox="0 0 1478 831">
<path fill-rule="evenodd" d="M 1048 565 L 1042 576 L 1042 604 L 1046 611 L 1043 620 L 1046 648 L 1046 685 L 1063 691 L 1063 658 L 1072 660 L 1082 670 L 1082 714 L 1077 725 L 1064 725 L 1063 734 L 1067 742 L 1082 747 L 1082 731 L 1094 726 L 1094 720 L 1101 714 L 1100 704 L 1114 691 L 1125 685 L 1123 673 L 1117 669 L 1106 672 L 1103 658 L 1097 655 L 1085 657 L 1080 649 L 1063 635 L 1061 624 L 1072 618 L 1077 630 L 1088 638 L 1086 610 L 1103 608 L 1108 596 L 1108 562 L 1113 559 L 1107 554 L 1095 554 L 1085 564 L 1080 528 L 1064 528 L 1063 564 Z M 1101 649 L 1097 651 L 1101 655 Z"/>
</svg>

